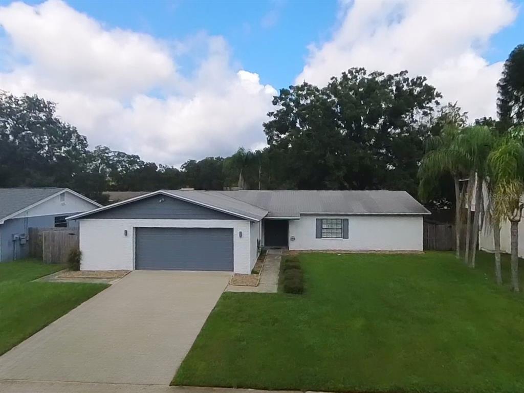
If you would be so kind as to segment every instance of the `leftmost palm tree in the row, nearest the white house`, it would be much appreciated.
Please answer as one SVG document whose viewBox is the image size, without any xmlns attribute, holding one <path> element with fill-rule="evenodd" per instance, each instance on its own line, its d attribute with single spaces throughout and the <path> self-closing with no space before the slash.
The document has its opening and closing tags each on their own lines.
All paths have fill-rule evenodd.
<svg viewBox="0 0 524 393">
<path fill-rule="evenodd" d="M 419 194 L 422 199 L 428 199 L 436 186 L 436 179 L 446 172 L 451 173 L 455 190 L 455 255 L 457 258 L 460 258 L 460 208 L 464 194 L 463 191 L 461 192 L 460 179 L 467 167 L 463 151 L 457 148 L 456 144 L 460 134 L 461 129 L 450 123 L 444 126 L 440 135 L 431 137 L 426 143 L 427 153 L 422 158 L 418 172 Z"/>
</svg>

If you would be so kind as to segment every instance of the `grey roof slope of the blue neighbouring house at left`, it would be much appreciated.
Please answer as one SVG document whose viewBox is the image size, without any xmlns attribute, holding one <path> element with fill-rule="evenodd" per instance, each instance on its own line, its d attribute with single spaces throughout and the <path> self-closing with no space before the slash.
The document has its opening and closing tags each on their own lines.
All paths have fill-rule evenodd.
<svg viewBox="0 0 524 393">
<path fill-rule="evenodd" d="M 0 188 L 0 221 L 65 188 Z"/>
</svg>

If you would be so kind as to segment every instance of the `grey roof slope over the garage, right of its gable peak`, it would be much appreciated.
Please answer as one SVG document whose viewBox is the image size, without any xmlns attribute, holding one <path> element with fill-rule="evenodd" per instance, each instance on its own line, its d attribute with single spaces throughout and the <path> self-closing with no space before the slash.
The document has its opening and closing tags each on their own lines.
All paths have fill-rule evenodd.
<svg viewBox="0 0 524 393">
<path fill-rule="evenodd" d="M 226 195 L 220 192 L 193 190 L 162 191 L 173 196 L 178 196 L 182 199 L 189 199 L 196 203 L 209 205 L 215 209 L 246 216 L 255 220 L 261 220 L 268 214 L 268 211 L 260 206 L 254 205 L 250 202 L 245 202 L 241 199 L 233 198 L 233 195 Z"/>
</svg>

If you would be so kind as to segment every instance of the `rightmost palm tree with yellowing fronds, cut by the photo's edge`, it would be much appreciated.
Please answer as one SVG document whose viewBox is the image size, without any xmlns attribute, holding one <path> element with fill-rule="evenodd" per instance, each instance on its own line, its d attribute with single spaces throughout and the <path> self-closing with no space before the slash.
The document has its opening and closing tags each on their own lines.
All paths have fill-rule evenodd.
<svg viewBox="0 0 524 393">
<path fill-rule="evenodd" d="M 521 134 L 524 129 L 521 127 Z M 519 291 L 518 225 L 524 208 L 524 144 L 514 133 L 501 139 L 489 154 L 488 165 L 494 182 L 494 216 L 500 222 L 509 220 L 511 234 L 511 287 Z"/>
</svg>

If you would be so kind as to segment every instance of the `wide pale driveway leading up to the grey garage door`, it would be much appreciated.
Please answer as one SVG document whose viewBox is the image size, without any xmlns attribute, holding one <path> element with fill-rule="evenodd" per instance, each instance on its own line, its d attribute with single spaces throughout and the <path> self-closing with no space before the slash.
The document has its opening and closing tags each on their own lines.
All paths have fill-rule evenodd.
<svg viewBox="0 0 524 393">
<path fill-rule="evenodd" d="M 1 356 L 0 380 L 167 385 L 230 276 L 133 271 Z"/>
</svg>

